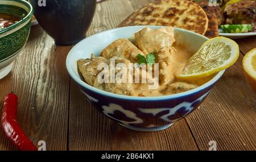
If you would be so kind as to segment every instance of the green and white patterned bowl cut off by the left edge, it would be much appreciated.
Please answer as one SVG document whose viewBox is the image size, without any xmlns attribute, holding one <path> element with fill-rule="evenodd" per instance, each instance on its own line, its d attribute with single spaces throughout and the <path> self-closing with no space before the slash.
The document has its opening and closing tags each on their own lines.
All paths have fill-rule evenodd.
<svg viewBox="0 0 256 162">
<path fill-rule="evenodd" d="M 19 55 L 30 33 L 32 6 L 22 0 L 1 0 L 0 13 L 22 16 L 19 22 L 0 31 L 0 79 L 11 71 L 12 62 Z"/>
</svg>

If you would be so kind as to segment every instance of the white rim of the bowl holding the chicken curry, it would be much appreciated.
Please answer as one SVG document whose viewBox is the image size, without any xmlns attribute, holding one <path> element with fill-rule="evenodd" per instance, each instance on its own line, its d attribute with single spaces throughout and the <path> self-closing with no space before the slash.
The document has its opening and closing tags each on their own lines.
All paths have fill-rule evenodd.
<svg viewBox="0 0 256 162">
<path fill-rule="evenodd" d="M 122 30 L 123 28 L 133 28 L 133 27 L 164 27 L 164 26 L 129 26 L 129 27 L 118 27 L 118 28 L 113 28 L 113 29 L 110 29 L 110 30 L 98 32 L 97 34 L 91 35 L 88 38 L 90 38 L 92 36 L 100 35 L 100 34 L 102 34 L 104 32 L 114 32 L 114 31 L 117 31 L 117 30 Z M 201 36 L 203 38 L 209 39 L 209 38 L 207 38 L 207 37 L 205 37 L 203 35 L 197 34 L 197 33 L 192 32 L 192 31 L 184 30 L 184 29 L 177 28 L 177 27 L 174 27 L 174 28 L 176 28 L 176 29 L 178 29 L 180 31 L 190 32 L 191 34 L 194 34 L 194 35 Z M 85 38 L 85 39 L 88 39 L 88 38 Z M 83 40 L 85 40 L 85 39 L 83 39 Z M 90 91 L 92 91 L 94 93 L 100 94 L 100 95 L 105 95 L 106 97 L 113 97 L 113 98 L 125 99 L 125 100 L 130 100 L 130 101 L 152 101 L 152 100 L 160 101 L 160 100 L 167 100 L 167 99 L 178 99 L 178 98 L 181 98 L 181 97 L 186 97 L 188 95 L 192 95 L 192 94 L 201 92 L 204 89 L 209 88 L 210 86 L 215 84 L 221 78 L 221 76 L 225 72 L 225 70 L 222 70 L 222 71 L 218 72 L 216 74 L 216 76 L 214 76 L 211 80 L 209 80 L 205 84 L 203 84 L 203 85 L 201 85 L 201 86 L 199 86 L 199 87 L 197 87 L 195 89 L 188 90 L 188 91 L 182 92 L 182 93 L 176 93 L 176 94 L 170 94 L 170 95 L 160 95 L 160 96 L 155 96 L 155 97 L 136 97 L 136 96 L 130 96 L 130 95 L 122 95 L 122 94 L 110 93 L 110 92 L 106 92 L 104 90 L 100 90 L 100 89 L 94 88 L 93 86 L 91 86 L 91 85 L 87 84 L 86 82 L 82 81 L 81 78 L 77 77 L 76 74 L 73 73 L 72 67 L 71 67 L 72 63 L 69 60 L 71 60 L 70 58 L 71 58 L 71 55 L 72 55 L 73 51 L 75 50 L 75 48 L 78 47 L 79 45 L 81 45 L 83 40 L 81 40 L 79 43 L 77 43 L 71 49 L 71 51 L 69 51 L 69 53 L 67 55 L 66 68 L 67 68 L 67 71 L 69 73 L 69 76 L 71 76 L 71 78 L 77 84 L 82 86 L 83 88 L 86 88 L 86 89 L 88 89 L 88 90 L 90 90 Z"/>
</svg>

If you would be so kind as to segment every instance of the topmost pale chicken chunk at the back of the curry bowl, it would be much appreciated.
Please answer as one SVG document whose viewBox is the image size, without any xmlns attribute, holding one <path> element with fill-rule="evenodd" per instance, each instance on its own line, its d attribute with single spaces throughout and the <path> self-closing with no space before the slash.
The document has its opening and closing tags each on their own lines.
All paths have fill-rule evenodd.
<svg viewBox="0 0 256 162">
<path fill-rule="evenodd" d="M 135 33 L 135 43 L 145 55 L 158 52 L 162 48 L 171 48 L 174 41 L 173 27 L 163 27 L 158 30 L 145 27 Z"/>
</svg>

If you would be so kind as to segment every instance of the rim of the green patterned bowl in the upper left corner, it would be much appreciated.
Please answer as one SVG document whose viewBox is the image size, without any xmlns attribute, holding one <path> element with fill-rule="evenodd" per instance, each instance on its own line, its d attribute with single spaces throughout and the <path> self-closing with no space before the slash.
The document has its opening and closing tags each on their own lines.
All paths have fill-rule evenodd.
<svg viewBox="0 0 256 162">
<path fill-rule="evenodd" d="M 13 24 L 12 26 L 10 27 L 7 27 L 5 28 L 4 30 L 0 31 L 0 34 L 4 34 L 5 32 L 7 31 L 11 31 L 13 30 L 14 28 L 20 26 L 20 24 L 23 24 L 24 22 L 26 22 L 28 19 L 31 19 L 32 18 L 32 15 L 34 13 L 34 9 L 32 7 L 32 5 L 30 4 L 30 2 L 27 2 L 27 1 L 24 1 L 24 0 L 8 0 L 8 1 L 14 1 L 14 2 L 18 2 L 18 3 L 22 3 L 23 5 L 27 6 L 28 9 L 29 9 L 29 12 L 28 14 L 21 20 L 19 20 L 18 23 L 15 23 Z M 11 5 L 10 5 L 11 6 Z"/>
</svg>

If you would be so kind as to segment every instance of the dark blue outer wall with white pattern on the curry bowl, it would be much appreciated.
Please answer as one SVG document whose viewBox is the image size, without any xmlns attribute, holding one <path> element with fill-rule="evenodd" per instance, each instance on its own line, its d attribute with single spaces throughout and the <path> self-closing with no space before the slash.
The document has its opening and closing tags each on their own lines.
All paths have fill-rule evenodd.
<svg viewBox="0 0 256 162">
<path fill-rule="evenodd" d="M 195 110 L 207 97 L 212 86 L 189 96 L 148 102 L 102 97 L 85 88 L 80 89 L 97 110 L 121 126 L 137 131 L 158 131 L 171 126 Z"/>
</svg>

